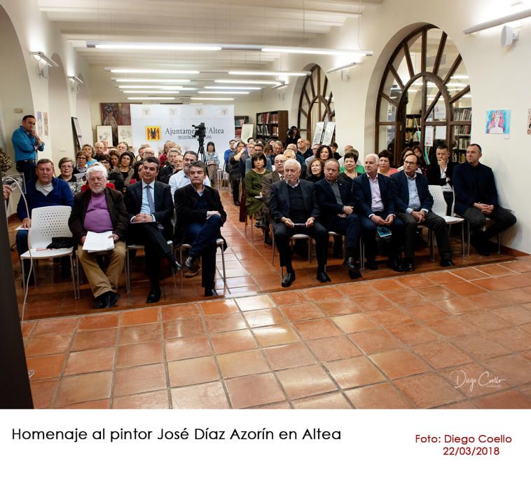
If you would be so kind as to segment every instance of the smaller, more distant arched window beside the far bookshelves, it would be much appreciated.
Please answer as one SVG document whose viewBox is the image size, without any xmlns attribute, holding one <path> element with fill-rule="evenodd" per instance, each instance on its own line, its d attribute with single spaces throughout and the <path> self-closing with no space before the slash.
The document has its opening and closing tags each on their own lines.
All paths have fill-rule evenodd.
<svg viewBox="0 0 531 491">
<path fill-rule="evenodd" d="M 315 123 L 335 121 L 336 109 L 334 109 L 332 90 L 323 69 L 319 65 L 314 65 L 310 72 L 304 81 L 301 99 L 298 102 L 297 126 L 301 135 L 311 142 Z"/>
</svg>

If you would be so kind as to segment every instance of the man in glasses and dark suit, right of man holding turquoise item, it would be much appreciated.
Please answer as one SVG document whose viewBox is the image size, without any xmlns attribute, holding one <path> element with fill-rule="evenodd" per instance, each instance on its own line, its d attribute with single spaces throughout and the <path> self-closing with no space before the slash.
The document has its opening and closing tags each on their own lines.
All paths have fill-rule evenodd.
<svg viewBox="0 0 531 491">
<path fill-rule="evenodd" d="M 396 214 L 404 222 L 404 271 L 415 271 L 415 234 L 417 225 L 426 225 L 435 232 L 441 266 L 453 266 L 448 229 L 443 217 L 432 212 L 433 196 L 429 194 L 427 177 L 417 172 L 418 157 L 406 156 L 404 170 L 391 179 L 396 184 Z"/>
</svg>

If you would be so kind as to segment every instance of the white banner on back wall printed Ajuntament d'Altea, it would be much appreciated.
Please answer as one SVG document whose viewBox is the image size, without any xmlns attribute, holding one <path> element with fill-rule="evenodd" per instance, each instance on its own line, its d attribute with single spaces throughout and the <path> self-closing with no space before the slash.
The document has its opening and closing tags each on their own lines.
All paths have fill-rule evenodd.
<svg viewBox="0 0 531 491">
<path fill-rule="evenodd" d="M 208 142 L 214 142 L 216 152 L 223 155 L 228 141 L 234 137 L 233 105 L 170 105 L 132 104 L 132 144 L 135 152 L 141 144 L 148 143 L 156 154 L 163 152 L 167 140 L 186 150 L 198 151 L 199 142 L 193 137 L 194 128 L 205 123 L 205 152 Z"/>
</svg>

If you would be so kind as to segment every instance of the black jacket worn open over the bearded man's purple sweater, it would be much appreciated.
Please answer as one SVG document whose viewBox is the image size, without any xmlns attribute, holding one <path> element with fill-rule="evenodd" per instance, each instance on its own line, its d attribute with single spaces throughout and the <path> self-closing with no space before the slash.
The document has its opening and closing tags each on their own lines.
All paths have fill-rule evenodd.
<svg viewBox="0 0 531 491">
<path fill-rule="evenodd" d="M 109 187 L 104 189 L 104 193 L 111 222 L 113 223 L 113 232 L 120 237 L 121 241 L 125 241 L 125 233 L 127 227 L 129 227 L 129 220 L 127 220 L 127 210 L 123 203 L 123 196 L 120 191 Z M 81 243 L 81 237 L 87 235 L 87 230 L 83 223 L 85 222 L 85 215 L 91 197 L 92 191 L 90 189 L 74 196 L 74 206 L 72 207 L 72 213 L 68 220 L 68 226 L 72 232 L 72 238 L 76 246 Z"/>
</svg>

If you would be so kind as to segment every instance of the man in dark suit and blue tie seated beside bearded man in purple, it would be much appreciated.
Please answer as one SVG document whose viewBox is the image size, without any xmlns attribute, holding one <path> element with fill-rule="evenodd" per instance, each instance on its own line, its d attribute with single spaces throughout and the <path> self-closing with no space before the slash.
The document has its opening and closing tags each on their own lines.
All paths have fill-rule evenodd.
<svg viewBox="0 0 531 491">
<path fill-rule="evenodd" d="M 157 182 L 158 160 L 144 160 L 142 180 L 127 186 L 125 208 L 129 214 L 130 243 L 144 244 L 146 274 L 151 282 L 151 291 L 146 302 L 160 300 L 160 260 L 167 257 L 174 273 L 181 269 L 175 260 L 172 248 L 167 244 L 172 238 L 173 201 L 170 186 Z"/>
</svg>

